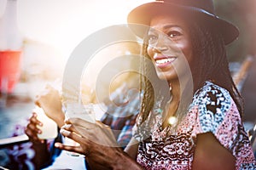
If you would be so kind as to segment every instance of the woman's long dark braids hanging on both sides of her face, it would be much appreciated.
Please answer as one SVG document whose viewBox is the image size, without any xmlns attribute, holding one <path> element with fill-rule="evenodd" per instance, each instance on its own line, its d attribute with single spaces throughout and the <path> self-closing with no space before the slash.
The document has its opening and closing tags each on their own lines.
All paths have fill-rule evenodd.
<svg viewBox="0 0 256 170">
<path fill-rule="evenodd" d="M 189 35 L 192 43 L 193 59 L 192 64 L 194 65 L 191 68 L 194 93 L 199 88 L 202 88 L 204 82 L 212 81 L 218 86 L 225 88 L 229 91 L 232 99 L 235 101 L 238 111 L 241 116 L 243 113 L 243 100 L 241 94 L 238 92 L 235 83 L 230 74 L 229 62 L 226 56 L 224 39 L 221 35 L 209 29 L 209 26 L 206 24 L 190 23 L 189 25 Z M 164 86 L 161 86 L 161 81 L 158 80 L 158 95 L 163 95 L 164 98 L 160 96 L 154 96 L 154 88 L 148 80 L 148 75 L 156 75 L 154 67 L 148 65 L 145 62 L 145 59 L 150 59 L 147 54 L 147 42 L 143 44 L 143 58 L 141 60 L 141 71 L 143 74 L 140 76 L 140 88 L 143 92 L 143 98 L 141 102 L 141 111 L 139 117 L 141 117 L 141 122 L 144 122 L 152 109 L 154 108 L 154 99 L 161 99 L 162 105 L 166 105 L 169 98 L 169 95 L 166 95 L 166 89 L 163 89 Z M 196 65 L 196 66 L 195 66 Z M 145 76 L 147 75 L 147 76 Z M 184 110 L 183 110 L 184 111 Z M 185 114 L 185 113 L 183 113 Z M 177 116 L 183 117 L 183 116 Z M 177 120 L 181 122 L 181 120 Z M 140 122 L 140 123 L 141 123 Z"/>
</svg>

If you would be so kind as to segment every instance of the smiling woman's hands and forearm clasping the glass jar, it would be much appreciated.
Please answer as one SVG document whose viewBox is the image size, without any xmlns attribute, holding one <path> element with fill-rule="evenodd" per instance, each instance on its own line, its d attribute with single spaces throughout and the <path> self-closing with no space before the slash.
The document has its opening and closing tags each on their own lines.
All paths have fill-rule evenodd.
<svg viewBox="0 0 256 170">
<path fill-rule="evenodd" d="M 70 118 L 66 125 L 61 127 L 61 134 L 80 145 L 67 146 L 56 143 L 55 147 L 84 155 L 90 165 L 113 168 L 123 166 L 129 161 L 129 166 L 132 163 L 137 166 L 137 163 L 119 147 L 111 129 L 102 122 L 91 123 L 79 118 Z M 127 165 L 124 168 L 127 168 Z"/>
</svg>

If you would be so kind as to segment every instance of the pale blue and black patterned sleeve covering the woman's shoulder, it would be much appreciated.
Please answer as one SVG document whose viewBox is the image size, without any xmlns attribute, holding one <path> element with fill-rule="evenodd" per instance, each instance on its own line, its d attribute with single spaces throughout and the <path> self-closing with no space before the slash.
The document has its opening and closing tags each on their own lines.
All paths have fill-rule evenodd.
<svg viewBox="0 0 256 170">
<path fill-rule="evenodd" d="M 205 82 L 204 86 L 195 93 L 190 107 L 190 109 L 197 108 L 196 120 L 200 127 L 197 133 L 212 132 L 216 134 L 226 123 L 231 127 L 236 126 L 236 123 L 230 122 L 229 118 L 230 116 L 239 117 L 239 112 L 235 111 L 236 108 L 233 111 L 233 107 L 236 105 L 226 89 L 213 82 Z"/>
</svg>

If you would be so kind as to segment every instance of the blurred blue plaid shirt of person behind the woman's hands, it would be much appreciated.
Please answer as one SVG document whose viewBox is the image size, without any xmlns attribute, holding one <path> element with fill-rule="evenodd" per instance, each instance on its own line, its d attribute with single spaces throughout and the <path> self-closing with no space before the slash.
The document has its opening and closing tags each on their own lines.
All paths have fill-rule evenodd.
<svg viewBox="0 0 256 170">
<path fill-rule="evenodd" d="M 101 121 L 110 126 L 118 144 L 125 148 L 132 136 L 132 127 L 139 112 L 139 92 L 137 89 L 128 90 L 125 85 L 115 90 L 106 102 L 108 111 Z"/>
</svg>

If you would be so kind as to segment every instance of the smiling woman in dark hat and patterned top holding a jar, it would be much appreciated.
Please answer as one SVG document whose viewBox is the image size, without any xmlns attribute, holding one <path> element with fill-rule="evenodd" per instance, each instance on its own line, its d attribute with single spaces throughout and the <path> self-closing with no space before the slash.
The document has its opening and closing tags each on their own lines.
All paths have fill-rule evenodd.
<svg viewBox="0 0 256 170">
<path fill-rule="evenodd" d="M 162 88 L 141 78 L 143 101 L 125 149 L 129 156 L 113 147 L 104 125 L 79 119 L 67 120 L 61 133 L 81 145 L 55 146 L 84 154 L 91 165 L 113 169 L 255 169 L 241 122 L 242 99 L 224 49 L 238 36 L 236 26 L 218 19 L 211 0 L 146 3 L 131 11 L 128 22 L 150 26 L 143 60 L 153 61 L 156 75 L 170 86 L 171 98 L 161 98 Z M 141 30 L 133 29 L 143 37 Z M 187 94 L 191 79 L 186 61 L 193 99 Z M 143 71 L 145 76 L 151 70 L 143 63 Z"/>
</svg>

